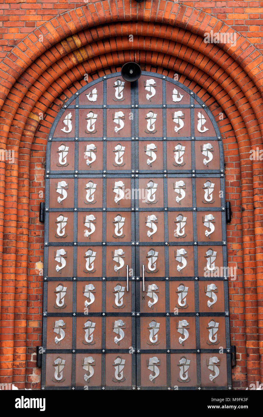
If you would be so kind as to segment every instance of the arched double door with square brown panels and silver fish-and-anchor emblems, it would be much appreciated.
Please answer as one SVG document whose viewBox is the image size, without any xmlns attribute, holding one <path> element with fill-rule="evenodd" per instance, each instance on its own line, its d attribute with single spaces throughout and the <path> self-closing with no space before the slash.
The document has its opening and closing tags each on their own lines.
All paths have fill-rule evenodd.
<svg viewBox="0 0 263 417">
<path fill-rule="evenodd" d="M 184 85 L 119 73 L 48 137 L 43 389 L 231 386 L 223 145 Z"/>
</svg>

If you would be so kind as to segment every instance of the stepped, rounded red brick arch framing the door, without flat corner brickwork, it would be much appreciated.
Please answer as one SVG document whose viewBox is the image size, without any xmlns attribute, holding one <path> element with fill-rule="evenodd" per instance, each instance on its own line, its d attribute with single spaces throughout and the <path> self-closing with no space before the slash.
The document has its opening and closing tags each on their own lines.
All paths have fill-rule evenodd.
<svg viewBox="0 0 263 417">
<path fill-rule="evenodd" d="M 240 268 L 240 281 L 230 286 L 230 296 L 233 294 L 230 320 L 235 329 L 245 319 L 246 334 L 237 349 L 240 354 L 237 374 L 241 375 L 237 379 L 245 379 L 247 372 L 248 382 L 260 381 L 260 374 L 262 380 L 263 345 L 258 337 L 258 325 L 262 335 L 263 314 L 262 191 L 259 189 L 262 168 L 261 161 L 250 161 L 249 151 L 262 148 L 263 68 L 258 51 L 238 33 L 235 47 L 205 44 L 205 33 L 211 30 L 230 33 L 229 27 L 220 20 L 172 1 L 161 1 L 157 6 L 150 1 L 137 4 L 132 0 L 129 5 L 124 0 L 116 3 L 104 0 L 48 21 L 15 46 L 0 65 L 2 148 L 15 150 L 15 163 L 0 162 L 1 328 L 5 335 L 1 341 L 0 378 L 3 382 L 25 386 L 25 363 L 29 359 L 26 339 L 30 327 L 37 327 L 35 320 L 41 320 L 40 316 L 32 318 L 34 309 L 31 314 L 27 305 L 27 300 L 33 301 L 35 296 L 28 286 L 31 281 L 28 271 L 33 274 L 36 259 L 43 256 L 39 250 L 43 238 L 35 238 L 36 248 L 31 241 L 33 232 L 41 226 L 31 232 L 30 216 L 38 209 L 34 206 L 38 198 L 30 195 L 30 169 L 36 163 L 36 155 L 42 153 L 44 158 L 48 130 L 63 98 L 66 100 L 86 84 L 85 74 L 96 78 L 104 71 L 119 70 L 128 60 L 136 60 L 143 69 L 153 67 L 168 76 L 178 73 L 179 80 L 190 83 L 215 116 L 219 106 L 225 112 L 219 127 L 225 148 L 226 185 L 232 193 L 229 198 L 235 198 L 231 189 L 241 176 L 241 202 L 237 197 L 233 220 L 236 232 L 241 228 L 242 216 L 242 231 L 235 235 L 233 226 L 228 227 L 229 260 Z M 129 42 L 129 35 L 133 35 L 133 42 Z M 39 119 L 40 113 L 45 115 L 43 121 Z M 228 131 L 231 135 L 234 132 L 235 141 Z M 37 170 L 33 174 L 37 183 Z M 232 236 L 238 237 L 232 240 Z M 240 285 L 244 286 L 244 304 L 240 299 L 243 296 Z M 235 342 L 239 342 L 237 338 Z"/>
</svg>

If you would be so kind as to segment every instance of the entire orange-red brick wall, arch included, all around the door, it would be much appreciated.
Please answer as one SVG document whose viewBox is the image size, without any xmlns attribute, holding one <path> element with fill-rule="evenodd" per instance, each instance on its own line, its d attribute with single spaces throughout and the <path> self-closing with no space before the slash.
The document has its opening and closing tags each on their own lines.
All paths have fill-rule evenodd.
<svg viewBox="0 0 263 417">
<path fill-rule="evenodd" d="M 261 187 L 263 177 L 262 168 L 249 160 L 249 151 L 262 147 L 263 8 L 255 1 L 147 1 L 132 2 L 132 9 L 127 2 L 116 3 L 2 3 L 0 134 L 1 146 L 15 149 L 15 163 L 0 162 L 0 382 L 40 387 L 35 347 L 41 345 L 43 224 L 38 211 L 44 201 L 46 141 L 53 120 L 63 103 L 86 84 L 85 73 L 97 78 L 104 68 L 115 72 L 124 61 L 137 60 L 144 70 L 170 77 L 178 73 L 179 81 L 198 94 L 220 127 L 226 200 L 233 211 L 227 226 L 228 264 L 238 268 L 237 280 L 229 281 L 231 339 L 237 347 L 233 387 L 244 389 L 260 381 L 262 349 L 262 196 L 260 190 L 253 192 L 253 183 Z M 111 23 L 117 13 L 125 23 Z M 215 18 L 227 25 L 221 30 L 237 31 L 235 49 L 203 43 L 205 32 L 220 31 Z M 135 28 L 132 21 L 137 20 L 147 23 Z M 134 34 L 134 50 L 127 33 Z"/>
</svg>

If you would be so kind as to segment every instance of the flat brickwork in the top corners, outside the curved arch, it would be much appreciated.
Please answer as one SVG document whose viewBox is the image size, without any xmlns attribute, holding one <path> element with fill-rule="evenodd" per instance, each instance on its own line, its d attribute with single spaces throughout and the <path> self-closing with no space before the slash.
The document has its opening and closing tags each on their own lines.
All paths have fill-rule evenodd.
<svg viewBox="0 0 263 417">
<path fill-rule="evenodd" d="M 0 58 L 28 33 L 51 18 L 83 4 L 98 0 L 1 0 L 0 4 Z M 182 1 L 177 3 L 202 10 L 223 20 L 241 35 L 263 50 L 263 4 L 260 1 Z"/>
</svg>

